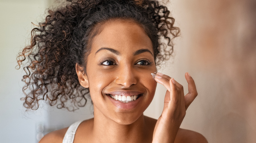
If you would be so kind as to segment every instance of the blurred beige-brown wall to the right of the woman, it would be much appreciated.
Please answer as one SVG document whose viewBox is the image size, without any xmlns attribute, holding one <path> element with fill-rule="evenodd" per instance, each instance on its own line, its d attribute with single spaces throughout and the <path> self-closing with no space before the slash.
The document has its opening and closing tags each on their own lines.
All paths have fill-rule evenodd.
<svg viewBox="0 0 256 143">
<path fill-rule="evenodd" d="M 199 93 L 181 127 L 211 143 L 254 143 L 256 1 L 173 0 L 169 8 L 181 37 L 163 72 L 184 87 L 184 73 L 190 72 Z"/>
</svg>

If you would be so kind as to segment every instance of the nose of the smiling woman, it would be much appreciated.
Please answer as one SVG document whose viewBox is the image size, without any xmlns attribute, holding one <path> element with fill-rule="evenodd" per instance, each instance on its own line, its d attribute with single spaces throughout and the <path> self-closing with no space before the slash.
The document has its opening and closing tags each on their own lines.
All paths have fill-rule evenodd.
<svg viewBox="0 0 256 143">
<path fill-rule="evenodd" d="M 130 87 L 137 84 L 136 71 L 132 67 L 120 67 L 116 75 L 116 84 Z"/>
</svg>

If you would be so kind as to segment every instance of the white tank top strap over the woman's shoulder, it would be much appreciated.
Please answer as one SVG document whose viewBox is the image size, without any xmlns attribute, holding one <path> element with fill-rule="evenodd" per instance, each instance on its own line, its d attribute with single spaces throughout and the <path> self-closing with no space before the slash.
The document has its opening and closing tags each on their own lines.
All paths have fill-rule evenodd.
<svg viewBox="0 0 256 143">
<path fill-rule="evenodd" d="M 77 121 L 69 126 L 69 128 L 63 138 L 62 143 L 73 143 L 74 142 L 75 132 L 82 121 L 83 120 Z"/>
</svg>

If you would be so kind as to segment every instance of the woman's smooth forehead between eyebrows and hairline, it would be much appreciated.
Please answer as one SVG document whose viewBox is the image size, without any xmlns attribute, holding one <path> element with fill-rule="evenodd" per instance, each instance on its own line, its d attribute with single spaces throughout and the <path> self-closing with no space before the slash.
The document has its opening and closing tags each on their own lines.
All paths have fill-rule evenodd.
<svg viewBox="0 0 256 143">
<path fill-rule="evenodd" d="M 92 52 L 102 47 L 116 50 L 147 48 L 153 45 L 141 25 L 127 20 L 116 20 L 102 25 L 100 33 L 92 40 Z"/>
</svg>

